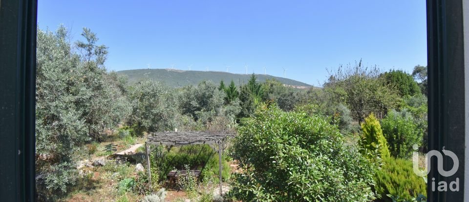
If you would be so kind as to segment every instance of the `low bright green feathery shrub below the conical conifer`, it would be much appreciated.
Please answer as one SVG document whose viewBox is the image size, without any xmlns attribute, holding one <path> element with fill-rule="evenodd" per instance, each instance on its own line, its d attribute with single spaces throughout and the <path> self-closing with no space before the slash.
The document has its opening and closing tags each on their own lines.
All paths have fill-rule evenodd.
<svg viewBox="0 0 469 202">
<path fill-rule="evenodd" d="M 376 172 L 374 179 L 374 189 L 381 195 L 382 202 L 391 202 L 388 194 L 405 200 L 426 195 L 425 181 L 414 173 L 410 160 L 384 158 L 382 169 Z"/>
</svg>

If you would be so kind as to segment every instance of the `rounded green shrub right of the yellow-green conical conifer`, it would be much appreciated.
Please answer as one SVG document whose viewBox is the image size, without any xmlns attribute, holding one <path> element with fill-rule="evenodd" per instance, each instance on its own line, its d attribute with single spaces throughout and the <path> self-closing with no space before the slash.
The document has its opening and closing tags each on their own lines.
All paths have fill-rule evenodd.
<svg viewBox="0 0 469 202">
<path fill-rule="evenodd" d="M 396 158 L 409 158 L 412 155 L 412 146 L 422 144 L 423 129 L 417 127 L 410 114 L 391 110 L 383 119 L 382 127 L 389 143 L 389 151 Z"/>
</svg>

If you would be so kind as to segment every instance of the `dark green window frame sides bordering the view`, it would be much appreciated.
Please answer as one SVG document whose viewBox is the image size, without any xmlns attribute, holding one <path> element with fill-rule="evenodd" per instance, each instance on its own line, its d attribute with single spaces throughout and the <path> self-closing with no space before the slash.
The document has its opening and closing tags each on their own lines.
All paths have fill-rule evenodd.
<svg viewBox="0 0 469 202">
<path fill-rule="evenodd" d="M 0 0 L 0 200 L 35 201 L 35 65 L 37 0 Z M 431 202 L 464 199 L 465 82 L 463 1 L 427 0 L 428 149 L 459 157 L 451 177 L 433 158 L 428 182 L 460 180 L 459 192 L 432 192 Z M 452 167 L 445 159 L 444 167 Z M 469 193 L 467 193 L 469 195 Z M 468 196 L 469 197 L 469 196 Z"/>
</svg>

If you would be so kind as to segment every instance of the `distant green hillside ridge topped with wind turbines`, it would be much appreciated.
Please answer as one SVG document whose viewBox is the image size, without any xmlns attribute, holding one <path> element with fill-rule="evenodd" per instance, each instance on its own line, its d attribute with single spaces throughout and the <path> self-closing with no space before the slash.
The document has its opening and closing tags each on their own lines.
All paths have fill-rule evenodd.
<svg viewBox="0 0 469 202">
<path fill-rule="evenodd" d="M 125 74 L 128 76 L 128 82 L 130 85 L 135 84 L 140 79 L 148 77 L 158 81 L 163 81 L 166 85 L 171 87 L 183 87 L 189 84 L 196 85 L 203 80 L 212 80 L 215 83 L 219 83 L 221 80 L 225 81 L 227 85 L 231 80 L 235 81 L 236 85 L 246 83 L 249 80 L 251 74 L 237 74 L 237 73 L 226 73 L 226 72 L 203 72 L 203 71 L 182 71 L 182 70 L 171 70 L 171 69 L 139 69 L 139 70 L 123 70 L 118 73 Z M 311 87 L 311 85 L 299 82 L 293 79 L 282 78 L 271 75 L 256 74 L 257 79 L 260 82 L 264 82 L 266 79 L 275 78 L 283 84 L 289 86 L 296 86 L 298 88 Z"/>
</svg>

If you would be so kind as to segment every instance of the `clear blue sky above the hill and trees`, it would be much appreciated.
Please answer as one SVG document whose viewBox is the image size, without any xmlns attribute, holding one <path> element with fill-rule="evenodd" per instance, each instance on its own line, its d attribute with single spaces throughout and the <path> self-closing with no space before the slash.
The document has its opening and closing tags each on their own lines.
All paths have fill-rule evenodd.
<svg viewBox="0 0 469 202">
<path fill-rule="evenodd" d="M 318 85 L 355 63 L 426 65 L 425 0 L 40 0 L 41 29 L 82 27 L 109 47 L 109 70 L 264 73 Z"/>
</svg>

